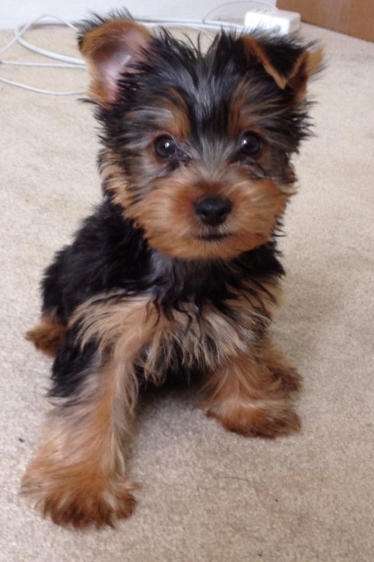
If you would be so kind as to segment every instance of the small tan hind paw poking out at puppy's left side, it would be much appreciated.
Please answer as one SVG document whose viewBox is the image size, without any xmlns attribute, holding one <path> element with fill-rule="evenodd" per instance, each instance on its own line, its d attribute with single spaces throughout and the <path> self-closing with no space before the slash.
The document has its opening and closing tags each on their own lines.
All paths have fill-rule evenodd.
<svg viewBox="0 0 374 562">
<path fill-rule="evenodd" d="M 39 324 L 27 332 L 26 339 L 32 341 L 36 349 L 46 355 L 54 356 L 65 338 L 66 329 L 66 326 L 55 316 L 44 314 Z"/>
</svg>

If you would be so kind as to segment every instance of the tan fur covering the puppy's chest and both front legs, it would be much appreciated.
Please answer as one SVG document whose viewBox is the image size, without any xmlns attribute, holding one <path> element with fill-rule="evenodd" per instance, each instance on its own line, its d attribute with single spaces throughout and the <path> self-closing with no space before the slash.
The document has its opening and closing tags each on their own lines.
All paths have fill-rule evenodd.
<svg viewBox="0 0 374 562">
<path fill-rule="evenodd" d="M 135 486 L 123 449 L 138 395 L 135 365 L 161 384 L 176 347 L 183 366 L 212 373 L 204 387 L 206 411 L 227 429 L 266 436 L 295 431 L 298 419 L 285 402 L 284 381 L 292 379 L 286 363 L 272 346 L 262 355 L 258 348 L 279 300 L 278 282 L 259 279 L 248 289 L 257 296 L 249 290 L 228 303 L 234 319 L 210 306 L 198 314 L 187 303 L 185 313 L 166 318 L 149 297 L 119 294 L 76 310 L 70 326 L 79 328 L 82 347 L 92 338 L 98 342 L 98 355 L 76 394 L 55 405 L 22 481 L 22 493 L 44 516 L 81 529 L 131 515 Z"/>
</svg>

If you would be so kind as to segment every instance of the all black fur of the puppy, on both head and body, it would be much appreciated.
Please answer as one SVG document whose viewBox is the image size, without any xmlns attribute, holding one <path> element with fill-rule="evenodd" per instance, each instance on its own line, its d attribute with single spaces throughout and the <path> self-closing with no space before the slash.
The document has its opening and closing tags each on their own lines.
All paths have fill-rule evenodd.
<svg viewBox="0 0 374 562">
<path fill-rule="evenodd" d="M 117 13 L 115 17 L 121 18 L 123 14 Z M 128 18 L 127 13 L 125 17 Z M 113 14 L 109 19 L 113 19 Z M 85 22 L 79 42 L 88 30 L 105 21 L 96 17 Z M 241 81 L 246 84 L 248 105 L 253 107 L 269 143 L 266 164 L 248 162 L 248 174 L 282 183 L 295 181 L 289 162 L 309 132 L 307 103 L 293 100 L 290 88 L 281 90 L 258 61 L 253 60 L 248 68 L 243 45 L 237 39 L 234 34 L 222 33 L 203 55 L 192 44 L 162 32 L 152 40 L 147 59 L 137 63 L 138 72 L 122 75 L 114 106 L 97 106 L 102 144 L 105 150 L 112 149 L 119 155 L 123 172 L 133 183 L 143 174 L 142 150 L 137 147 L 155 126 L 147 108 L 154 108 L 158 97 L 171 95 L 166 93 L 169 87 L 180 93 L 187 105 L 192 131 L 182 145 L 184 159 L 180 157 L 176 165 L 187 165 L 196 153 L 201 158 L 208 158 L 212 152 L 220 159 L 234 157 L 234 140 L 227 137 L 226 131 L 229 100 Z M 302 49 L 298 41 L 291 39 L 258 36 L 258 41 L 280 72 L 287 72 Z M 279 48 L 283 52 L 280 58 Z M 130 112 L 138 112 L 138 119 L 126 119 Z M 103 155 L 104 152 L 101 159 Z M 169 171 L 166 166 L 164 174 Z M 137 196 L 135 192 L 134 197 Z M 267 244 L 229 262 L 172 259 L 149 247 L 142 230 L 123 216 L 123 209 L 105 192 L 102 204 L 86 219 L 74 242 L 58 252 L 47 268 L 42 284 L 43 311 L 66 325 L 79 304 L 95 295 L 115 291 L 119 298 L 149 294 L 168 316 L 173 315 L 173 310 L 183 310 L 185 303 L 194 303 L 200 309 L 209 303 L 221 313 L 232 315 L 227 299 L 232 298 L 234 290 L 243 290 L 247 280 L 254 285 L 258 282 L 260 287 L 264 277 L 283 275 L 275 237 L 276 231 Z M 261 308 L 260 298 L 258 306 Z M 76 334 L 70 329 L 55 358 L 51 394 L 74 393 L 86 368 L 94 361 L 95 342 L 81 353 Z"/>
</svg>

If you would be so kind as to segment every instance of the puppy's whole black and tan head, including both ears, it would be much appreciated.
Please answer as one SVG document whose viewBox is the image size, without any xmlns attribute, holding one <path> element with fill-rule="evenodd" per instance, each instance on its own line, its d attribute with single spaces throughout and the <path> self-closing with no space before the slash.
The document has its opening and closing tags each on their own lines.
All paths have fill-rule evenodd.
<svg viewBox="0 0 374 562">
<path fill-rule="evenodd" d="M 268 41 L 222 34 L 203 55 L 123 19 L 81 35 L 105 189 L 169 256 L 233 259 L 266 243 L 293 192 L 321 53 Z"/>
</svg>

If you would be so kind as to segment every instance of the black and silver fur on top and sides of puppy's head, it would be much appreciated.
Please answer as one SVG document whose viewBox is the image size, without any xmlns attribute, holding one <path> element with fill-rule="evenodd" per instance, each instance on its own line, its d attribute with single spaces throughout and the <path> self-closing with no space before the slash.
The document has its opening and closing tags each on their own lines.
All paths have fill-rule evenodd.
<svg viewBox="0 0 374 562">
<path fill-rule="evenodd" d="M 253 35 L 275 58 L 278 65 L 289 67 L 302 51 L 298 41 L 272 36 Z M 288 58 L 287 63 L 284 58 Z M 280 64 L 283 61 L 283 64 Z M 250 65 L 248 67 L 248 64 Z M 142 174 L 142 157 L 137 146 L 146 134 L 154 132 L 154 100 L 171 96 L 175 90 L 187 105 L 191 136 L 180 145 L 180 164 L 199 157 L 217 161 L 236 157 L 236 139 L 227 136 L 229 101 L 238 84 L 246 84 L 247 104 L 269 141 L 270 156 L 264 166 L 248 161 L 253 177 L 272 178 L 293 183 L 295 176 L 288 165 L 298 152 L 300 141 L 309 135 L 308 103 L 296 102 L 292 89 L 280 89 L 258 60 L 248 63 L 245 49 L 235 34 L 216 37 L 203 55 L 192 44 L 174 39 L 163 31 L 154 37 L 147 59 L 135 64 L 138 72 L 124 72 L 119 98 L 110 109 L 98 105 L 96 117 L 102 124 L 101 140 L 121 156 L 123 170 L 133 178 Z M 222 79 L 222 77 L 225 79 Z M 138 112 L 137 119 L 123 115 Z M 222 142 L 223 141 L 223 142 Z M 171 162 L 169 169 L 175 162 Z"/>
</svg>

